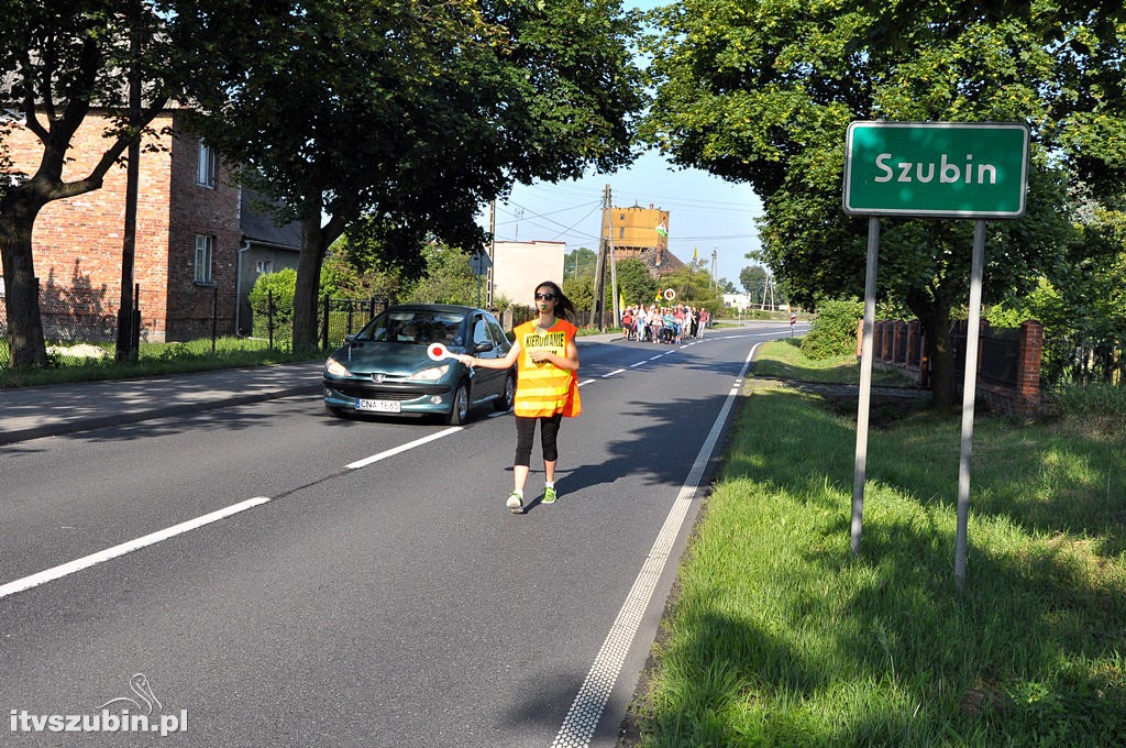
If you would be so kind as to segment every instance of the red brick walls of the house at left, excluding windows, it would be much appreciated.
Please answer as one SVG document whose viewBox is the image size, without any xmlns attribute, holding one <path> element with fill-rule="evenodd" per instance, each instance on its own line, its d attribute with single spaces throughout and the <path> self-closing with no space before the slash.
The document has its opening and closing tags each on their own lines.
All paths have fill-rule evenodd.
<svg viewBox="0 0 1126 748">
<path fill-rule="evenodd" d="M 152 127 L 176 128 L 175 113 L 158 117 Z M 106 148 L 105 121 L 87 117 L 71 142 L 63 179 L 89 175 Z M 198 148 L 195 139 L 162 135 L 149 143 L 159 152 L 141 154 L 134 283 L 141 286 L 142 337 L 182 340 L 209 335 L 214 290 L 196 286 L 195 235 L 216 238 L 216 285 L 233 293 L 238 257 L 239 189 L 226 184 L 220 167 L 215 189 L 195 184 Z M 9 139 L 18 168 L 34 173 L 42 148 L 36 137 L 16 130 Z M 102 187 L 84 195 L 48 203 L 33 234 L 35 270 L 44 303 L 88 300 L 98 314 L 115 317 L 120 301 L 122 244 L 125 223 L 125 168 L 113 167 Z M 220 309 L 220 331 L 233 329 L 233 304 Z M 225 312 L 225 313 L 224 313 Z M 206 323 L 199 317 L 206 315 Z M 202 332 L 200 332 L 202 331 Z"/>
</svg>

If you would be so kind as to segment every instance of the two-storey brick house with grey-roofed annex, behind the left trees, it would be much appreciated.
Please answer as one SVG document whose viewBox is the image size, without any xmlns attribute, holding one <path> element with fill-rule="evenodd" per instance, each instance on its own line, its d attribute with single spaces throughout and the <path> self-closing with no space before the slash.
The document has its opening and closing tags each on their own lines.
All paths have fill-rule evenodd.
<svg viewBox="0 0 1126 748">
<path fill-rule="evenodd" d="M 266 229 L 269 221 L 252 213 L 214 151 L 182 134 L 181 119 L 177 109 L 158 116 L 154 131 L 177 134 L 141 154 L 134 283 L 142 340 L 189 340 L 213 328 L 235 332 L 247 313 L 240 313 L 241 286 L 249 290 L 248 278 L 253 284 L 256 267 L 294 267 L 300 250 L 300 233 Z M 104 151 L 104 128 L 96 113 L 87 117 L 71 142 L 64 180 L 89 173 Z M 17 128 L 8 145 L 16 168 L 34 171 L 42 154 L 35 136 Z M 100 189 L 48 203 L 36 219 L 33 251 L 48 340 L 116 335 L 125 188 L 125 169 L 110 169 Z"/>
</svg>

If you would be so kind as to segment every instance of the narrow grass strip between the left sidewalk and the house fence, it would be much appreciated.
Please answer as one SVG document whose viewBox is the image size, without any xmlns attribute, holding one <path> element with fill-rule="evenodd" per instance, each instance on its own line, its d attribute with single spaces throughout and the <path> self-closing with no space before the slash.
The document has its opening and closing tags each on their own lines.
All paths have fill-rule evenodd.
<svg viewBox="0 0 1126 748">
<path fill-rule="evenodd" d="M 266 341 L 250 338 L 220 338 L 212 351 L 211 339 L 190 342 L 142 342 L 135 363 L 114 360 L 114 346 L 100 346 L 109 357 L 98 359 L 61 358 L 51 356 L 42 368 L 11 369 L 0 367 L 0 388 L 64 384 L 99 380 L 125 380 L 141 376 L 161 376 L 203 372 L 240 366 L 266 366 L 289 362 L 314 360 L 315 354 L 294 354 L 267 348 Z"/>
</svg>

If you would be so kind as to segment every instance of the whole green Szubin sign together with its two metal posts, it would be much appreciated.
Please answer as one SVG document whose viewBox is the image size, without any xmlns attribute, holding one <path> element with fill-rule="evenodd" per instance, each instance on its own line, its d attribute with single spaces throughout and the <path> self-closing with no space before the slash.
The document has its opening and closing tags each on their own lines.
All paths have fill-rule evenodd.
<svg viewBox="0 0 1126 748">
<path fill-rule="evenodd" d="M 860 553 L 864 529 L 879 216 L 976 219 L 969 279 L 969 329 L 966 336 L 954 551 L 954 576 L 959 588 L 966 581 L 969 458 L 973 451 L 974 400 L 977 388 L 985 220 L 1024 215 L 1028 185 L 1028 127 L 1010 123 L 854 122 L 848 127 L 844 212 L 870 216 L 852 477 L 851 547 L 856 554 Z"/>
</svg>

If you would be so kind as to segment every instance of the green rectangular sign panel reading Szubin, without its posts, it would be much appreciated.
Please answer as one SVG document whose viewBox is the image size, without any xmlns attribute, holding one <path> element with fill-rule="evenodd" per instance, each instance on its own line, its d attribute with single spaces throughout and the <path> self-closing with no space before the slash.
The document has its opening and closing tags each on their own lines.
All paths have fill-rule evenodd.
<svg viewBox="0 0 1126 748">
<path fill-rule="evenodd" d="M 854 122 L 844 212 L 1015 219 L 1025 213 L 1028 127 L 1008 123 Z"/>
</svg>

